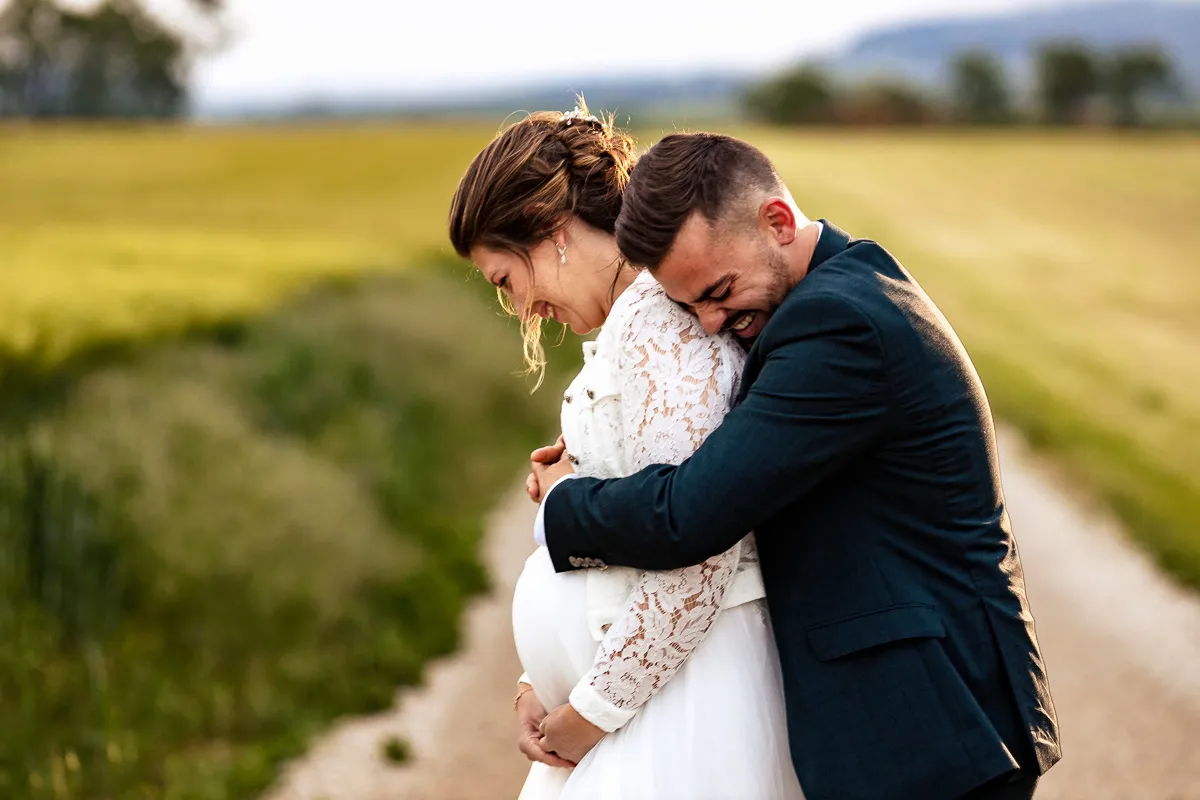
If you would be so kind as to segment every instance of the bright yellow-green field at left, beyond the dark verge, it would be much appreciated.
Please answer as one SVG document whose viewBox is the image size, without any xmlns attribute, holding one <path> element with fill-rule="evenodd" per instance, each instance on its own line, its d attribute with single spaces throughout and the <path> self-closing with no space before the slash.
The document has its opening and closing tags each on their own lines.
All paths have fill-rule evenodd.
<svg viewBox="0 0 1200 800">
<path fill-rule="evenodd" d="M 442 246 L 449 192 L 485 137 L 0 130 L 0 353 L 53 367 L 408 265 Z"/>
</svg>

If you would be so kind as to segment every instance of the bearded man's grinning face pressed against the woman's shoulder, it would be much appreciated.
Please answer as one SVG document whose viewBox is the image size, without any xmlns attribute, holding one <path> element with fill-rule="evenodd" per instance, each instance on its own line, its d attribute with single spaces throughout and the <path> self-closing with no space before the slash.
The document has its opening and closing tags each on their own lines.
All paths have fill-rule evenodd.
<svg viewBox="0 0 1200 800">
<path fill-rule="evenodd" d="M 713 223 L 694 213 L 654 277 L 709 333 L 727 330 L 749 342 L 792 289 L 772 233 L 769 225 Z"/>
</svg>

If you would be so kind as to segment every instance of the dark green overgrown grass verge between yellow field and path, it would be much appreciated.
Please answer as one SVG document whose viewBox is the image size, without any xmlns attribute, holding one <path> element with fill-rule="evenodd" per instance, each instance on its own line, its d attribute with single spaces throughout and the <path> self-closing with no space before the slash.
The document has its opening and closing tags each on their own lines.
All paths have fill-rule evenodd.
<svg viewBox="0 0 1200 800">
<path fill-rule="evenodd" d="M 356 278 L 28 387 L 0 433 L 0 796 L 253 796 L 455 646 L 484 512 L 553 421 L 481 295 Z"/>
</svg>

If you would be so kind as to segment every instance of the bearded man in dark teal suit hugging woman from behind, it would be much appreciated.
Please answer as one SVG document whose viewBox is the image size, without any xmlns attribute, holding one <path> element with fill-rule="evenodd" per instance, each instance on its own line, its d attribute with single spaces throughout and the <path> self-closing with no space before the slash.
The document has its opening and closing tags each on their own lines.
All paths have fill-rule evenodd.
<svg viewBox="0 0 1200 800">
<path fill-rule="evenodd" d="M 617 241 L 750 354 L 738 405 L 678 467 L 564 481 L 560 447 L 536 455 L 556 567 L 679 569 L 752 530 L 809 800 L 1031 798 L 1057 721 L 988 399 L 949 323 L 728 137 L 650 149 Z M 577 758 L 589 727 L 564 706 L 542 744 Z"/>
</svg>

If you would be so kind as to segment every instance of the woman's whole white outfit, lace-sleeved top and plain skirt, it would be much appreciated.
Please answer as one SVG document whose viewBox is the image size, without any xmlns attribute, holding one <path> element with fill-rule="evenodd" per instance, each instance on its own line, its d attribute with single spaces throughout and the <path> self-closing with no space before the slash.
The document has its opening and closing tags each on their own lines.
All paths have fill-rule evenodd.
<svg viewBox="0 0 1200 800">
<path fill-rule="evenodd" d="M 583 476 L 679 463 L 720 423 L 744 354 L 643 272 L 613 303 L 563 398 Z M 574 770 L 533 764 L 520 800 L 798 800 L 752 536 L 685 570 L 558 575 L 546 548 L 517 583 L 522 680 L 610 730 Z"/>
</svg>

